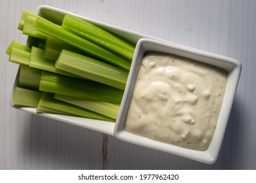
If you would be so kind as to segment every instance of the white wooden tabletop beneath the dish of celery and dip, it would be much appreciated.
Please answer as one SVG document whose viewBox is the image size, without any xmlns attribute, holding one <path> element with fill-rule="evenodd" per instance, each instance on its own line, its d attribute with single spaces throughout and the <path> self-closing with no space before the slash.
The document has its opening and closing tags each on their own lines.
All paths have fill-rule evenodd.
<svg viewBox="0 0 256 183">
<path fill-rule="evenodd" d="M 22 9 L 39 5 L 240 60 L 218 161 L 205 165 L 108 137 L 103 166 L 101 133 L 12 108 L 18 66 L 5 50 L 13 39 L 26 42 L 16 29 Z M 0 169 L 256 169 L 256 1 L 0 0 L 0 22 Z"/>
</svg>

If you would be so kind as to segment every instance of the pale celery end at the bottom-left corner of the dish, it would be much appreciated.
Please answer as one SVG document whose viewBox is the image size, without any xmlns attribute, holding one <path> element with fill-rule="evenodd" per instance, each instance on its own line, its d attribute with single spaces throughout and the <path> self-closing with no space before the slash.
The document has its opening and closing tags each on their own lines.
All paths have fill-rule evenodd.
<svg viewBox="0 0 256 183">
<path fill-rule="evenodd" d="M 21 88 L 16 86 L 12 97 L 12 104 L 22 107 L 37 107 L 41 98 L 41 93 L 38 90 Z"/>
</svg>

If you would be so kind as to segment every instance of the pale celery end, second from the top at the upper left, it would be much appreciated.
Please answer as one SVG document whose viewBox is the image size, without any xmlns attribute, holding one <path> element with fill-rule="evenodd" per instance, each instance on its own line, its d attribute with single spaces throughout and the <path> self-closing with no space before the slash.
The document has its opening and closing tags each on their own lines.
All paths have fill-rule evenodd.
<svg viewBox="0 0 256 183">
<path fill-rule="evenodd" d="M 37 18 L 35 16 L 27 15 L 24 22 L 24 27 L 22 30 L 22 33 L 24 35 L 28 35 L 31 37 L 36 37 L 39 39 L 47 39 L 47 35 L 44 33 L 41 33 L 40 31 L 37 31 L 35 29 L 35 22 L 37 21 Z"/>
</svg>

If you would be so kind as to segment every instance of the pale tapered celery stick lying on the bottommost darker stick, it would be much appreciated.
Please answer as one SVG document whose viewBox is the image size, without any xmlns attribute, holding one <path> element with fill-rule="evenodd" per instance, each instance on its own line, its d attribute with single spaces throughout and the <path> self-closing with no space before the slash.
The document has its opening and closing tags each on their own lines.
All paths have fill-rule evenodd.
<svg viewBox="0 0 256 183">
<path fill-rule="evenodd" d="M 104 101 L 89 101 L 87 99 L 70 97 L 67 95 L 55 94 L 54 98 L 82 108 L 87 108 L 88 110 L 92 110 L 94 112 L 103 114 L 114 119 L 117 118 L 117 114 L 120 108 L 120 104 L 117 103 L 108 103 Z"/>
</svg>

